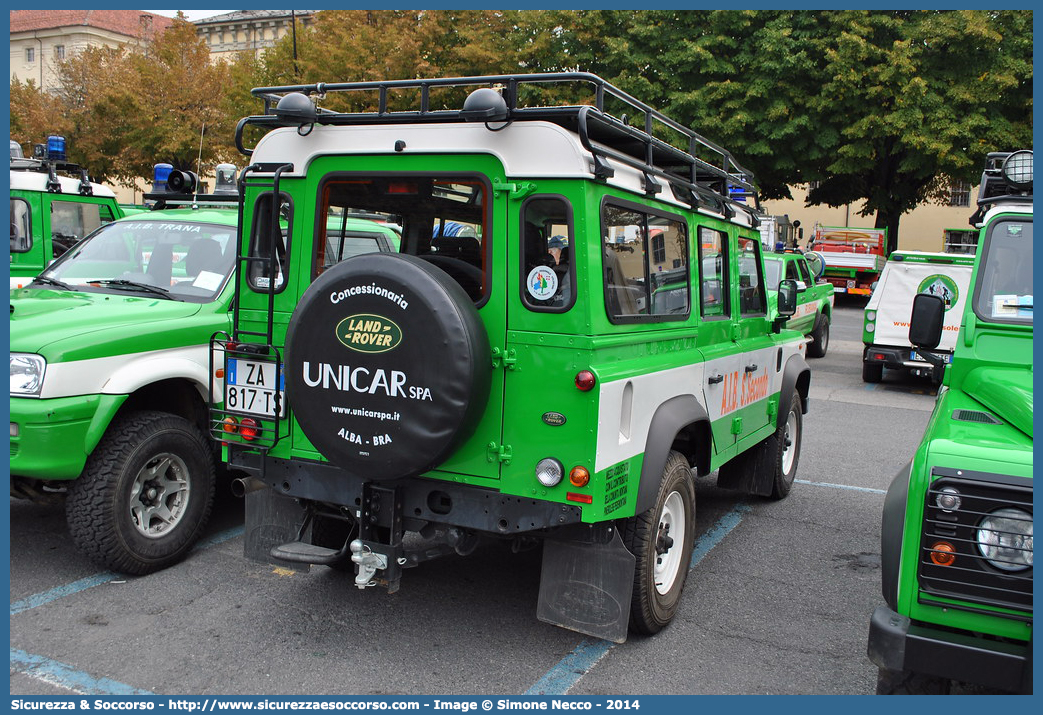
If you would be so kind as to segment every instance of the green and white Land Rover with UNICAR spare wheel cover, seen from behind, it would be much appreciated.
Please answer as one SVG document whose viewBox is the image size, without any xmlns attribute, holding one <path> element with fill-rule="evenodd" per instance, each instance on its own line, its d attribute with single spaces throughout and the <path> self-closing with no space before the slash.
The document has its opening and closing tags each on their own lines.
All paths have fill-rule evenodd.
<svg viewBox="0 0 1043 715">
<path fill-rule="evenodd" d="M 394 591 L 481 537 L 542 542 L 538 618 L 665 626 L 694 473 L 782 498 L 797 470 L 805 340 L 793 281 L 769 318 L 749 173 L 589 74 L 253 93 L 211 424 L 247 554 Z M 333 255 L 357 217 L 395 250 Z"/>
</svg>

